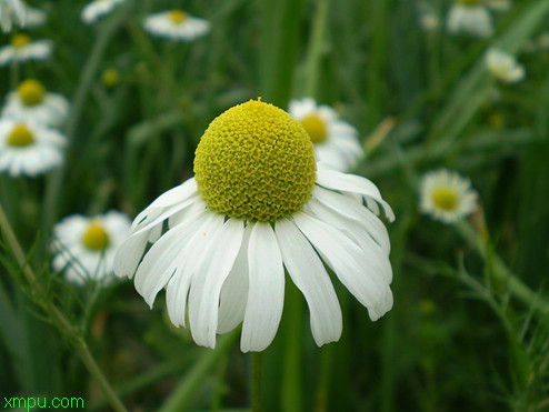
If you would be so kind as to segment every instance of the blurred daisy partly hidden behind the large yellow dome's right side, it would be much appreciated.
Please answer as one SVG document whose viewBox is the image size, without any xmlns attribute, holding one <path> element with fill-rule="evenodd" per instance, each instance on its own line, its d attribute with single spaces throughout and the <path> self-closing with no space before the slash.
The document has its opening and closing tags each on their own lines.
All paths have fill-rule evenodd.
<svg viewBox="0 0 549 412">
<path fill-rule="evenodd" d="M 357 129 L 341 121 L 328 105 L 318 105 L 313 99 L 292 100 L 290 114 L 301 123 L 315 144 L 315 158 L 336 170 L 352 168 L 363 151 Z"/>
</svg>

